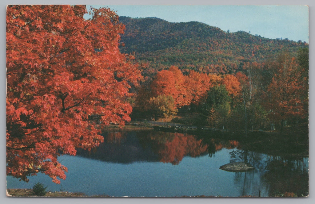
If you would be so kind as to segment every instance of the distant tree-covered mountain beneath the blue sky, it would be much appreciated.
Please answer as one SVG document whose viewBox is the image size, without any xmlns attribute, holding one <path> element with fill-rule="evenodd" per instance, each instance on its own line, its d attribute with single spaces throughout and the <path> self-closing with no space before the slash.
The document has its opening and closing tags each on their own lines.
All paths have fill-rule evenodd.
<svg viewBox="0 0 315 204">
<path fill-rule="evenodd" d="M 191 21 L 171 23 L 159 18 L 120 17 L 126 26 L 121 36 L 122 52 L 134 53 L 139 62 L 164 69 L 176 65 L 211 73 L 233 73 L 244 62 L 262 62 L 280 52 L 296 54 L 301 41 L 268 39 L 244 31 L 224 32 L 220 28 Z"/>
</svg>

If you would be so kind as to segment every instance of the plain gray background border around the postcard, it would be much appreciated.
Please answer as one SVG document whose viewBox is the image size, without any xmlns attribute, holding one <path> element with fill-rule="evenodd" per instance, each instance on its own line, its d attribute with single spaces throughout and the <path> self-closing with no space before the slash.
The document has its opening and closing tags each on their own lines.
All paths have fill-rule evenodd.
<svg viewBox="0 0 315 204">
<path fill-rule="evenodd" d="M 6 168 L 5 168 L 5 155 L 6 155 L 6 63 L 5 63 L 5 53 L 6 53 L 6 40 L 5 40 L 5 19 L 6 19 L 6 5 L 8 4 L 92 4 L 92 5 L 119 5 L 119 4 L 139 4 L 139 5 L 309 5 L 309 56 L 310 56 L 310 71 L 309 71 L 309 146 L 310 146 L 310 159 L 309 159 L 309 172 L 310 172 L 310 196 L 306 198 L 16 198 L 16 197 L 6 197 Z M 315 4 L 313 0 L 1 0 L 0 3 L 0 201 L 2 203 L 18 203 L 23 204 L 28 203 L 47 203 L 52 204 L 58 203 L 69 203 L 75 202 L 76 204 L 93 202 L 93 203 L 131 203 L 131 204 L 142 204 L 142 203 L 313 203 L 314 199 L 314 184 L 315 184 L 315 173 L 314 173 L 314 87 L 315 87 L 315 70 L 314 70 L 314 46 L 312 45 L 312 40 L 314 37 L 314 11 Z"/>
</svg>

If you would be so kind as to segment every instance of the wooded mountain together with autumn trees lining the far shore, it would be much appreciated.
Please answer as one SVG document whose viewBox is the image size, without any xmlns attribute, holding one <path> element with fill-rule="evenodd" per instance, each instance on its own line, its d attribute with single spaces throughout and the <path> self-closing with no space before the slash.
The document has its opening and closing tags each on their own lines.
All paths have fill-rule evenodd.
<svg viewBox="0 0 315 204">
<path fill-rule="evenodd" d="M 306 42 L 230 33 L 194 21 L 119 20 L 125 25 L 120 49 L 135 56 L 144 77 L 134 90 L 135 118 L 245 133 L 307 121 Z"/>
</svg>

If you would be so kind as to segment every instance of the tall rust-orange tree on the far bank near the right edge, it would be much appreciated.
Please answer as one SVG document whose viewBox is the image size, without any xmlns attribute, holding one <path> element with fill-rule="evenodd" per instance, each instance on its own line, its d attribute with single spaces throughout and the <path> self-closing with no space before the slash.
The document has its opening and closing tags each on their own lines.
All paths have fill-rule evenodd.
<svg viewBox="0 0 315 204">
<path fill-rule="evenodd" d="M 273 66 L 274 74 L 266 88 L 265 106 L 270 119 L 281 121 L 280 130 L 283 131 L 287 119 L 297 123 L 298 119 L 306 117 L 303 103 L 307 80 L 301 77 L 302 69 L 289 53 L 279 55 Z"/>
</svg>

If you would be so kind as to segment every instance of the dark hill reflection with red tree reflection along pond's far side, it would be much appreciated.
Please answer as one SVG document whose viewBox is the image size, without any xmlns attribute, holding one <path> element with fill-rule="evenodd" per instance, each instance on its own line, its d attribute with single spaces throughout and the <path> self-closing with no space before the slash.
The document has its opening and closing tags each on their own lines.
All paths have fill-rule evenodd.
<svg viewBox="0 0 315 204">
<path fill-rule="evenodd" d="M 179 164 L 185 156 L 198 157 L 208 144 L 194 135 L 154 131 L 109 132 L 104 143 L 91 151 L 77 150 L 77 155 L 114 163 L 140 161 Z"/>
</svg>

